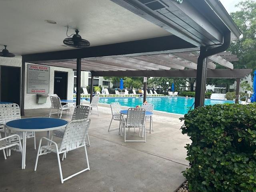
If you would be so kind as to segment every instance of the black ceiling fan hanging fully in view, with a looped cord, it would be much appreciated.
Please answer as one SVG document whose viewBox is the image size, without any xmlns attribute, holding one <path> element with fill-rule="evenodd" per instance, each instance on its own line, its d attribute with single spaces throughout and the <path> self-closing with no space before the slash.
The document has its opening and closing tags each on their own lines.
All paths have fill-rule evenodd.
<svg viewBox="0 0 256 192">
<path fill-rule="evenodd" d="M 68 27 L 68 26 L 67 26 Z M 72 34 L 70 36 L 72 36 L 72 38 L 70 38 L 70 36 L 68 36 L 68 29 L 66 32 L 66 35 L 68 36 L 68 38 L 63 40 L 63 43 L 67 46 L 70 47 L 76 47 L 76 48 L 83 48 L 83 47 L 88 47 L 90 46 L 90 42 L 88 40 L 82 39 L 82 37 L 78 34 L 79 30 L 75 30 L 76 34 Z"/>
</svg>

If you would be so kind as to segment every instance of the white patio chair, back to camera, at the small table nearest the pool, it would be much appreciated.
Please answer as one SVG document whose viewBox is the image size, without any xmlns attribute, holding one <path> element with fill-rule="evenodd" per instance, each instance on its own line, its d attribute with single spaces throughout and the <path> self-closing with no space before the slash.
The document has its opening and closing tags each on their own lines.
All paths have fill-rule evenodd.
<svg viewBox="0 0 256 192">
<path fill-rule="evenodd" d="M 124 127 L 124 142 L 146 142 L 145 114 L 146 110 L 144 108 L 128 109 L 127 118 L 123 118 L 124 125 L 122 125 Z M 130 130 L 130 128 L 139 128 L 139 136 L 140 129 L 142 129 L 141 137 L 143 137 L 144 133 L 144 140 L 126 140 L 126 128 L 128 128 L 128 130 Z"/>
</svg>

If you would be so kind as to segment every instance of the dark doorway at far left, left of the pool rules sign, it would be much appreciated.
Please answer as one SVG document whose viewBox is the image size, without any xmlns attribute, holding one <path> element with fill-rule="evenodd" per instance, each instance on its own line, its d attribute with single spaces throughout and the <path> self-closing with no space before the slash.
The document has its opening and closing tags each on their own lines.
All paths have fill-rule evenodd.
<svg viewBox="0 0 256 192">
<path fill-rule="evenodd" d="M 20 67 L 1 66 L 1 101 L 20 106 Z"/>
</svg>

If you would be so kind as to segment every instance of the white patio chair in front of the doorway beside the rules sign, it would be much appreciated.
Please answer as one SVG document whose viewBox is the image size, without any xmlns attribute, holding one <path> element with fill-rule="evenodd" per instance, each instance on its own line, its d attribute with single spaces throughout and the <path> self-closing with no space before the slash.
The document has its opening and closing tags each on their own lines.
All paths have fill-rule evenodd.
<svg viewBox="0 0 256 192">
<path fill-rule="evenodd" d="M 50 96 L 50 100 L 51 100 L 52 106 L 49 111 L 49 117 L 51 117 L 52 114 L 58 114 L 58 116 L 59 116 L 59 111 L 60 111 L 60 118 L 61 118 L 62 112 L 68 111 L 70 113 L 70 118 L 72 118 L 71 109 L 70 109 L 69 104 L 61 105 L 60 98 L 58 96 Z M 58 112 L 52 113 L 52 109 L 56 109 L 56 110 L 58 110 Z"/>
</svg>

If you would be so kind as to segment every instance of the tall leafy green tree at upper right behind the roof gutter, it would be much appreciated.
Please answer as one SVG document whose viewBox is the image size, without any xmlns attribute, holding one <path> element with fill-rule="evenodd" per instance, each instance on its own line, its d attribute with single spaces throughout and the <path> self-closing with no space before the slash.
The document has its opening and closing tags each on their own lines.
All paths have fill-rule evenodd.
<svg viewBox="0 0 256 192">
<path fill-rule="evenodd" d="M 230 14 L 242 36 L 233 41 L 227 51 L 236 54 L 239 61 L 232 62 L 234 68 L 256 69 L 256 2 L 254 0 L 241 1 L 236 4 L 240 10 Z M 216 68 L 223 68 L 217 65 Z M 252 74 L 253 77 L 253 74 Z M 207 84 L 226 84 L 226 91 L 234 83 L 234 79 L 207 79 Z"/>
</svg>

